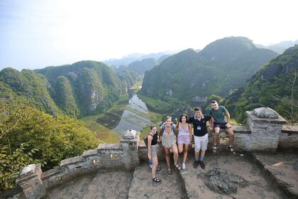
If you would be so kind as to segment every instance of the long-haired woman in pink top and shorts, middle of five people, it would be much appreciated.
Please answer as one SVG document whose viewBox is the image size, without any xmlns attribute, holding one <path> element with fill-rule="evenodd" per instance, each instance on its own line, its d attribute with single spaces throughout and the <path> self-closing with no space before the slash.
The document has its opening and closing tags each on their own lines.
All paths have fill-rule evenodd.
<svg viewBox="0 0 298 199">
<path fill-rule="evenodd" d="M 178 139 L 177 139 L 178 152 L 179 154 L 181 154 L 182 151 L 184 151 L 183 163 L 182 163 L 183 169 L 186 168 L 185 161 L 187 159 L 187 151 L 188 151 L 189 144 L 190 146 L 192 144 L 192 125 L 188 124 L 187 122 L 188 122 L 187 114 L 182 114 L 182 116 L 179 119 L 179 122 L 177 122 L 177 125 L 176 125 L 179 131 Z M 184 148 L 183 148 L 183 144 L 184 144 Z"/>
</svg>

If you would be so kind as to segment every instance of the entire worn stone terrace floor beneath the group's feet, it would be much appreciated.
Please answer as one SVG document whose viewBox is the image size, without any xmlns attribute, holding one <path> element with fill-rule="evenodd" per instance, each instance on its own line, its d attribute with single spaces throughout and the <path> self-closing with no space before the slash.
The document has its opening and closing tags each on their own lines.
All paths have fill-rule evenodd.
<svg viewBox="0 0 298 199">
<path fill-rule="evenodd" d="M 160 162 L 161 183 L 152 181 L 148 163 L 143 162 L 134 171 L 123 168 L 77 176 L 49 190 L 48 198 L 298 198 L 298 154 L 218 151 L 207 151 L 204 170 L 193 168 L 194 154 L 189 154 L 186 170 L 172 166 L 171 176 L 166 163 Z M 15 193 L 0 198 L 25 197 Z"/>
</svg>

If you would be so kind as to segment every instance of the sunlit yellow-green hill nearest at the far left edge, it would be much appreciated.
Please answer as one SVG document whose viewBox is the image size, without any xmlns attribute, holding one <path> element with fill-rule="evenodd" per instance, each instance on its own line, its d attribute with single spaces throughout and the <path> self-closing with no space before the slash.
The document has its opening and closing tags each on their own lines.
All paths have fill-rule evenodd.
<svg viewBox="0 0 298 199">
<path fill-rule="evenodd" d="M 0 71 L 0 91 L 1 104 L 16 107 L 31 103 L 52 115 L 62 113 L 50 95 L 54 92 L 53 87 L 45 76 L 32 70 L 19 72 L 13 68 L 4 68 Z"/>
</svg>

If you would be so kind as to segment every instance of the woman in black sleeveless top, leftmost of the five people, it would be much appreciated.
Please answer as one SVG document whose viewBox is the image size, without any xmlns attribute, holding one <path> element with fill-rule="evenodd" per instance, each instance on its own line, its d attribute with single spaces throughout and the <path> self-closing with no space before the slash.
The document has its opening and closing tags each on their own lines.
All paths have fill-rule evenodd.
<svg viewBox="0 0 298 199">
<path fill-rule="evenodd" d="M 155 125 L 152 125 L 150 127 L 151 131 L 150 134 L 148 134 L 148 158 L 153 162 L 152 167 L 152 179 L 155 183 L 160 183 L 160 179 L 156 177 L 156 171 L 160 171 L 161 168 L 158 166 L 158 135 L 156 132 L 158 129 Z"/>
</svg>

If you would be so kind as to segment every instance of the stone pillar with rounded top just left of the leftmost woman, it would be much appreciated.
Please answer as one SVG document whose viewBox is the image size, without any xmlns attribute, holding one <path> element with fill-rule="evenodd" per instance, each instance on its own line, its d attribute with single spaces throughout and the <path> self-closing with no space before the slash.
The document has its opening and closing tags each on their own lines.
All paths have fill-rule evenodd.
<svg viewBox="0 0 298 199">
<path fill-rule="evenodd" d="M 138 158 L 138 143 L 140 142 L 140 132 L 129 129 L 123 133 L 120 143 L 123 147 L 124 159 L 126 169 L 132 170 L 136 166 L 140 166 L 140 159 Z"/>
</svg>

